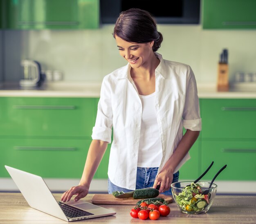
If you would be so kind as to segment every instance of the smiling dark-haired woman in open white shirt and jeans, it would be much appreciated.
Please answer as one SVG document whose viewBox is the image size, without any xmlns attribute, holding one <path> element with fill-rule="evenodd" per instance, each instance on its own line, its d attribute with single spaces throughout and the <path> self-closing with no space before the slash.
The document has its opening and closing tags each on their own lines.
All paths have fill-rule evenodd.
<svg viewBox="0 0 256 224">
<path fill-rule="evenodd" d="M 159 192 L 171 195 L 171 183 L 178 181 L 178 170 L 190 158 L 201 130 L 193 71 L 156 53 L 163 37 L 151 14 L 141 9 L 122 12 L 113 36 L 128 64 L 103 78 L 83 175 L 78 186 L 63 193 L 63 202 L 88 194 L 112 131 L 109 193 L 160 184 Z"/>
</svg>

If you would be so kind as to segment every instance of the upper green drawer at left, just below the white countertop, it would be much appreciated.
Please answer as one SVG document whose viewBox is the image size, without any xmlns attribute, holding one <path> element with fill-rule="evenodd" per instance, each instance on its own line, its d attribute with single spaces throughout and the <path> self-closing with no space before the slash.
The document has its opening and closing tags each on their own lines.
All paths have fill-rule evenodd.
<svg viewBox="0 0 256 224">
<path fill-rule="evenodd" d="M 95 99 L 0 98 L 0 135 L 90 137 Z"/>
</svg>

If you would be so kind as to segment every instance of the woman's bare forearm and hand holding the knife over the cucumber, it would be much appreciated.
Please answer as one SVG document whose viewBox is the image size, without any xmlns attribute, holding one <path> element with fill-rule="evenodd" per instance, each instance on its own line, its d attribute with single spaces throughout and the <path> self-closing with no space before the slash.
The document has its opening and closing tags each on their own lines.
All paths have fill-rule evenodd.
<svg viewBox="0 0 256 224">
<path fill-rule="evenodd" d="M 171 155 L 166 164 L 164 164 L 162 170 L 158 173 L 153 188 L 156 188 L 158 184 L 161 184 L 161 187 L 159 188 L 160 193 L 170 189 L 175 168 L 189 152 L 190 148 L 198 138 L 199 133 L 200 131 L 186 130 L 186 133 L 183 135 L 179 145 L 173 152 L 173 155 Z"/>
</svg>

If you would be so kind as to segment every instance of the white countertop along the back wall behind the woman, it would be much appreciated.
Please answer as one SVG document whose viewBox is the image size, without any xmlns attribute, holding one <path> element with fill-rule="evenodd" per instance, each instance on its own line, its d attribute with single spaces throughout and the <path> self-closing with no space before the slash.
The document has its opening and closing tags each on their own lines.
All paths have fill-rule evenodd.
<svg viewBox="0 0 256 224">
<path fill-rule="evenodd" d="M 44 83 L 36 90 L 22 90 L 18 85 L 0 88 L 0 97 L 72 97 L 94 98 L 100 96 L 99 82 L 52 82 Z M 213 83 L 198 83 L 200 99 L 256 99 L 256 83 L 233 85 L 229 92 L 218 92 Z"/>
</svg>

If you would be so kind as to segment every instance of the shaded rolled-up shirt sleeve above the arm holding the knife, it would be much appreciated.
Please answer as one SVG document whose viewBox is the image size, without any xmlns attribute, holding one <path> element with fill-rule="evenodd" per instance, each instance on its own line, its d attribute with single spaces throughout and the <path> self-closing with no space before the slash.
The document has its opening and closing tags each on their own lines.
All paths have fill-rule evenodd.
<svg viewBox="0 0 256 224">
<path fill-rule="evenodd" d="M 202 130 L 198 90 L 195 81 L 195 75 L 190 66 L 188 66 L 188 74 L 186 80 L 186 99 L 182 118 L 183 127 L 185 129 L 189 129 L 191 131 Z"/>
</svg>

